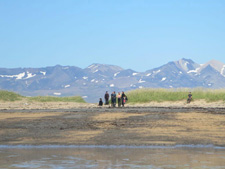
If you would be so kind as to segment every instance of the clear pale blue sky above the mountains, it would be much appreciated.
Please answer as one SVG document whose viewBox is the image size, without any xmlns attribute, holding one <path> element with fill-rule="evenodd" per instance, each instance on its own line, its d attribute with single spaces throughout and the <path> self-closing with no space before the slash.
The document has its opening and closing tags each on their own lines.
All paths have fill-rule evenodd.
<svg viewBox="0 0 225 169">
<path fill-rule="evenodd" d="M 0 0 L 0 67 L 225 63 L 225 0 Z"/>
</svg>

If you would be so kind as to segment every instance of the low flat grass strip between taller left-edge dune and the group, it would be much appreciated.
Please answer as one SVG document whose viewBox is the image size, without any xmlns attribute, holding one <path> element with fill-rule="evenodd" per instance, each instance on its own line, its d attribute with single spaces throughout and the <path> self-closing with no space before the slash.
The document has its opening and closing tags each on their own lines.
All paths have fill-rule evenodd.
<svg viewBox="0 0 225 169">
<path fill-rule="evenodd" d="M 76 102 L 76 103 L 86 103 L 84 99 L 80 96 L 72 96 L 72 97 L 55 97 L 55 96 L 36 96 L 29 97 L 29 101 L 37 101 L 37 102 Z"/>
</svg>

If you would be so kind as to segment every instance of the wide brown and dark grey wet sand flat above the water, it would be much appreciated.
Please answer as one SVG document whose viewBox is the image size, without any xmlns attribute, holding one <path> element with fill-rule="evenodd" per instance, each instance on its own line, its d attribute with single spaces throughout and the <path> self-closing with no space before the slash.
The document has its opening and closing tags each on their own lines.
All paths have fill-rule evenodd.
<svg viewBox="0 0 225 169">
<path fill-rule="evenodd" d="M 215 145 L 223 107 L 1 109 L 1 145 Z"/>
</svg>

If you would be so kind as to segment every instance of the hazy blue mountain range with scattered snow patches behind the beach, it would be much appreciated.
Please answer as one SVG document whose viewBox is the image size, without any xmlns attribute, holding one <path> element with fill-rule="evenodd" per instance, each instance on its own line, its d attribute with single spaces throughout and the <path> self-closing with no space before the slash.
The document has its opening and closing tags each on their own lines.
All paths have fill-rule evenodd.
<svg viewBox="0 0 225 169">
<path fill-rule="evenodd" d="M 145 72 L 97 63 L 85 69 L 61 65 L 0 68 L 0 89 L 25 96 L 80 95 L 96 103 L 105 91 L 182 87 L 225 88 L 225 64 L 216 60 L 198 64 L 183 58 Z"/>
</svg>

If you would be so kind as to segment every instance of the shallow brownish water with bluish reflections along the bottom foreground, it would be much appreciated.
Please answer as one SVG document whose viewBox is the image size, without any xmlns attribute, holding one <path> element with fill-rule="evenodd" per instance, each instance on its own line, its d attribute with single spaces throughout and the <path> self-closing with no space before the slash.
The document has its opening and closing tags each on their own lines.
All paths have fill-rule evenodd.
<svg viewBox="0 0 225 169">
<path fill-rule="evenodd" d="M 0 168 L 225 168 L 214 146 L 0 146 Z"/>
</svg>

